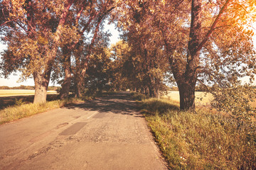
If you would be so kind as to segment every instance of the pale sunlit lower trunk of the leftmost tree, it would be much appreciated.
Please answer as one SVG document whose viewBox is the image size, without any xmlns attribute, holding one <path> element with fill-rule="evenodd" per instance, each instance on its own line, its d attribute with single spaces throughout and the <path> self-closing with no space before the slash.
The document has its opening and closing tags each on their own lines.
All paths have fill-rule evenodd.
<svg viewBox="0 0 256 170">
<path fill-rule="evenodd" d="M 46 103 L 48 84 L 50 81 L 50 71 L 47 74 L 35 72 L 33 74 L 35 81 L 35 96 L 33 103 Z"/>
</svg>

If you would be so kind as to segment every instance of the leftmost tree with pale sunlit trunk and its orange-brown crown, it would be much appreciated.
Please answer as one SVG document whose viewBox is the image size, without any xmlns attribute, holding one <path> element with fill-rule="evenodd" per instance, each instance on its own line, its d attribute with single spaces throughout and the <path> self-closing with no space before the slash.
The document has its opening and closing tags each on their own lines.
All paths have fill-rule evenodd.
<svg viewBox="0 0 256 170">
<path fill-rule="evenodd" d="M 8 44 L 3 55 L 4 74 L 20 69 L 23 77 L 35 81 L 34 103 L 45 103 L 50 73 L 62 37 L 78 38 L 75 28 L 65 27 L 68 11 L 75 0 L 68 1 L 1 1 L 1 34 Z M 9 67 L 10 65 L 12 67 Z"/>
</svg>

